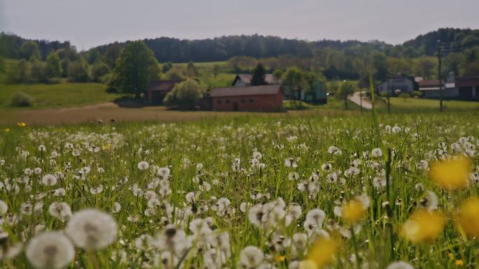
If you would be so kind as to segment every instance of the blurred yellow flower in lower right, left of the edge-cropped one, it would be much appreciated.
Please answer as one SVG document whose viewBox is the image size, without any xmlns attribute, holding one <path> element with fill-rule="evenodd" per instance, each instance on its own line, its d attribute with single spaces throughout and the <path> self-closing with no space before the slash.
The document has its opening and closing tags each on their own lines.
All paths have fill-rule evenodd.
<svg viewBox="0 0 479 269">
<path fill-rule="evenodd" d="M 401 235 L 414 243 L 431 242 L 443 231 L 444 224 L 445 217 L 441 212 L 420 209 L 405 221 Z"/>
</svg>

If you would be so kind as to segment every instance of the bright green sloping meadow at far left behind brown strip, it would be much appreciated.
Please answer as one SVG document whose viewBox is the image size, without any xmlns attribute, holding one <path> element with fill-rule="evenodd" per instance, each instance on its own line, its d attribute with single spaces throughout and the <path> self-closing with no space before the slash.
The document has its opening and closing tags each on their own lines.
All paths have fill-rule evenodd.
<svg viewBox="0 0 479 269">
<path fill-rule="evenodd" d="M 99 83 L 60 83 L 32 85 L 1 85 L 0 108 L 12 108 L 11 99 L 16 92 L 31 96 L 32 108 L 60 108 L 109 102 L 122 94 L 106 92 L 106 85 Z"/>
</svg>

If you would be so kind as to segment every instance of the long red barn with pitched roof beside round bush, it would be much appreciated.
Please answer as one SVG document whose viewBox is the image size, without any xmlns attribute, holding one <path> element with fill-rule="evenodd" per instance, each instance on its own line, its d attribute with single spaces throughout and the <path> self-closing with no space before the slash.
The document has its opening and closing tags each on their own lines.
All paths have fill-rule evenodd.
<svg viewBox="0 0 479 269">
<path fill-rule="evenodd" d="M 228 87 L 212 89 L 211 108 L 218 111 L 265 111 L 283 109 L 281 85 Z"/>
</svg>

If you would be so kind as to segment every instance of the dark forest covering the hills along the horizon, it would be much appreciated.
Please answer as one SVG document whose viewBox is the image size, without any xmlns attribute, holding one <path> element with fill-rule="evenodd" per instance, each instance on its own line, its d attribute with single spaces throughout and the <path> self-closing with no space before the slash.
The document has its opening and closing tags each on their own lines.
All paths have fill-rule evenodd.
<svg viewBox="0 0 479 269">
<path fill-rule="evenodd" d="M 479 74 L 479 30 L 444 28 L 417 36 L 401 45 L 382 41 L 301 41 L 275 36 L 221 36 L 202 40 L 181 40 L 178 38 L 144 39 L 160 63 L 185 63 L 228 61 L 234 72 L 249 72 L 258 62 L 275 69 L 297 66 L 304 70 L 323 73 L 326 78 L 359 79 L 368 73 L 383 80 L 388 73 L 405 73 L 424 78 L 435 78 L 438 41 L 443 50 L 443 75 L 454 72 L 457 75 Z M 88 64 L 102 61 L 114 66 L 120 50 L 128 42 L 99 45 L 90 50 L 78 52 Z M 14 34 L 0 34 L 0 56 L 8 59 L 32 57 L 36 43 L 39 55 L 44 61 L 50 52 L 59 52 L 60 58 L 76 51 L 68 41 L 31 41 Z M 64 55 L 64 57 L 62 57 Z M 83 60 L 82 60 L 83 61 Z M 64 61 L 64 67 L 68 63 Z M 67 68 L 63 69 L 64 72 Z"/>
</svg>

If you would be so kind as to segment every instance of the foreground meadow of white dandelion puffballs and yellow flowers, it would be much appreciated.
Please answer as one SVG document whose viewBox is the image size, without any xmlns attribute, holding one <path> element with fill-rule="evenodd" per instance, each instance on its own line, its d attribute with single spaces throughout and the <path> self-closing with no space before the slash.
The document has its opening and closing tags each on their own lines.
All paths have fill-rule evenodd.
<svg viewBox="0 0 479 269">
<path fill-rule="evenodd" d="M 477 113 L 0 131 L 1 268 L 478 268 Z"/>
</svg>

